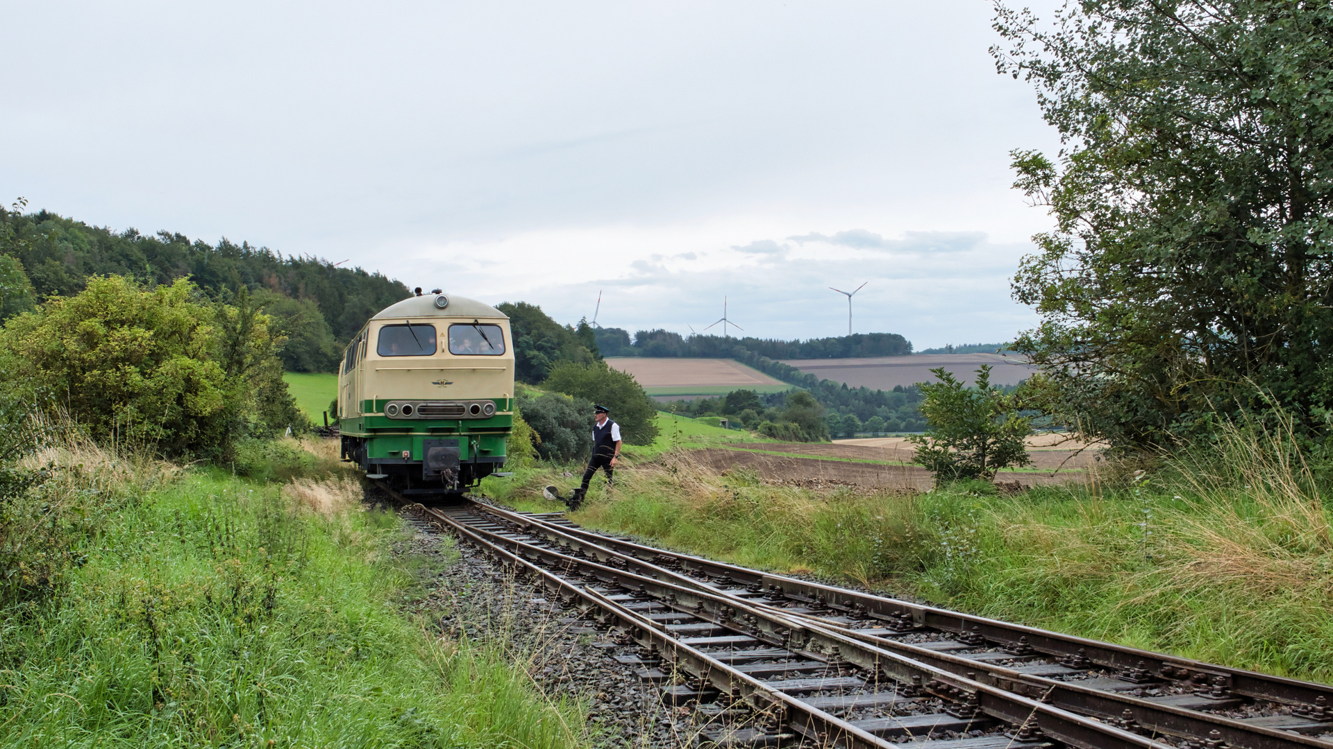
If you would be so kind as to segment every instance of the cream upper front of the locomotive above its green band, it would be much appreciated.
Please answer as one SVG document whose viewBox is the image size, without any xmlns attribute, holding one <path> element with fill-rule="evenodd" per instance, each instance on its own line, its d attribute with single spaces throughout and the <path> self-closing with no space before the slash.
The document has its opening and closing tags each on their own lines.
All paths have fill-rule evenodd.
<svg viewBox="0 0 1333 749">
<path fill-rule="evenodd" d="M 371 319 L 365 357 L 360 363 L 361 398 L 509 398 L 513 397 L 513 339 L 509 319 L 499 309 L 465 297 L 436 295 L 405 299 Z M 411 328 L 407 328 L 411 324 Z M 421 335 L 423 325 L 433 331 Z M 396 327 L 385 332 L 385 328 Z M 501 340 L 493 339 L 500 333 Z M 409 331 L 409 332 L 408 332 Z M 391 340 L 413 333 L 413 347 L 432 353 L 393 356 Z M 383 336 L 383 339 L 381 339 Z M 435 341 L 428 345 L 428 336 Z M 420 341 L 417 339 L 421 339 Z M 453 344 L 453 345 L 451 345 Z M 495 349 L 503 349 L 493 353 Z M 483 351 L 485 353 L 477 353 Z"/>
</svg>

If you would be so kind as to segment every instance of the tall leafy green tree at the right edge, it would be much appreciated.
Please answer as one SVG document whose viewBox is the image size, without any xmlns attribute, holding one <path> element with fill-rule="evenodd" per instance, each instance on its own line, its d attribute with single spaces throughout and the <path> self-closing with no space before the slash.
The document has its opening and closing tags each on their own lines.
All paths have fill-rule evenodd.
<svg viewBox="0 0 1333 749">
<path fill-rule="evenodd" d="M 1321 429 L 1333 385 L 1333 5 L 1085 0 L 1053 27 L 997 4 L 1058 159 L 1014 152 L 1056 219 L 1014 277 L 1048 408 L 1116 445 L 1217 409 Z"/>
</svg>

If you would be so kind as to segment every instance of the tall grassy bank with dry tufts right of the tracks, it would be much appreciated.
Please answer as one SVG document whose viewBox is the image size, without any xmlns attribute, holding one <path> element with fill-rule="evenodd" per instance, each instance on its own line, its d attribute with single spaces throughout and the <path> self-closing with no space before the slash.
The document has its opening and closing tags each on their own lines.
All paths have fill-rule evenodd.
<svg viewBox="0 0 1333 749">
<path fill-rule="evenodd" d="M 1294 449 L 1233 429 L 1149 476 L 1108 466 L 1017 496 L 816 492 L 716 476 L 673 453 L 624 472 L 575 518 L 742 565 L 1333 681 L 1333 520 Z"/>
</svg>

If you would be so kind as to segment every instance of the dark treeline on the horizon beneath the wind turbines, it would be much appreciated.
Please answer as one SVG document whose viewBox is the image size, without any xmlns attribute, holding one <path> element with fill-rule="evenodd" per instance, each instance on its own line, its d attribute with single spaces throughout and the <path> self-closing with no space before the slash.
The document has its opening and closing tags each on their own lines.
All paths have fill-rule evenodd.
<svg viewBox="0 0 1333 749">
<path fill-rule="evenodd" d="M 599 328 L 596 336 L 603 356 L 737 359 L 736 352 L 741 349 L 768 359 L 849 359 L 912 353 L 912 343 L 897 333 L 856 333 L 834 339 L 780 341 L 750 336 L 744 339 L 681 336 L 659 328 L 639 331 L 631 340 L 629 331 L 624 328 Z"/>
</svg>

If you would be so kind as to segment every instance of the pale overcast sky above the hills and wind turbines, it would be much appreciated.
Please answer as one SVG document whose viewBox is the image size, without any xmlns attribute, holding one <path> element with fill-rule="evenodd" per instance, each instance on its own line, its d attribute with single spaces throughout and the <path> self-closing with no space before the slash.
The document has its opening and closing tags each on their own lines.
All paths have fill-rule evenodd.
<svg viewBox="0 0 1333 749">
<path fill-rule="evenodd" d="M 1008 339 L 1058 141 L 981 0 L 5 3 L 0 199 L 561 323 Z"/>
</svg>

